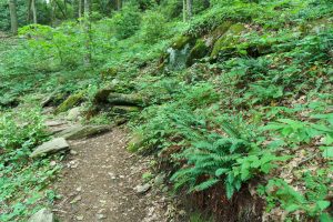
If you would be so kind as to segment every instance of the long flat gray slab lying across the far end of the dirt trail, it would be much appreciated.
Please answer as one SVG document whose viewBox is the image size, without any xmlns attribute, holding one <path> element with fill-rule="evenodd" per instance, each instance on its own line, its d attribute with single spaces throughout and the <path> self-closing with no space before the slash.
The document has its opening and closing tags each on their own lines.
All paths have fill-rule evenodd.
<svg viewBox="0 0 333 222">
<path fill-rule="evenodd" d="M 80 140 L 83 138 L 98 135 L 110 130 L 111 128 L 109 125 L 73 125 L 61 131 L 57 135 L 68 140 Z"/>
</svg>

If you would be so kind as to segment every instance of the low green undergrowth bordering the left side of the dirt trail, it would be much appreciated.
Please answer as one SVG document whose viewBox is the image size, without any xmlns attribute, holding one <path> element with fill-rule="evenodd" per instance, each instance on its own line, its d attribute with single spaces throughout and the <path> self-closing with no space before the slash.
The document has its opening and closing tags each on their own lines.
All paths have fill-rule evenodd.
<svg viewBox="0 0 333 222">
<path fill-rule="evenodd" d="M 47 139 L 39 110 L 0 113 L 0 221 L 24 220 L 49 194 L 41 191 L 60 170 L 50 159 L 31 161 L 31 150 Z"/>
</svg>

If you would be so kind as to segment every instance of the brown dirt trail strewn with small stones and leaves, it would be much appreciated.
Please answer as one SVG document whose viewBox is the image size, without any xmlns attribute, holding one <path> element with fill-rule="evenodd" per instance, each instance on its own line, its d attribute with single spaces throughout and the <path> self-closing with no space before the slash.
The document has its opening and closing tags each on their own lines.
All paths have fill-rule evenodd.
<svg viewBox="0 0 333 222">
<path fill-rule="evenodd" d="M 168 221 L 167 200 L 158 191 L 144 194 L 141 184 L 149 160 L 125 150 L 123 130 L 85 140 L 72 141 L 71 154 L 54 189 L 62 198 L 54 205 L 60 222 L 70 221 Z"/>
</svg>

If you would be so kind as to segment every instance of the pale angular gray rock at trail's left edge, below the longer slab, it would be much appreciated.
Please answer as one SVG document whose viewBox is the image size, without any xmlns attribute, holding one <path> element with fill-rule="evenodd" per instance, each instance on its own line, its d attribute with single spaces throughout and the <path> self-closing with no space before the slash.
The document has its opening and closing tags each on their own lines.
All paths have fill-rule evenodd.
<svg viewBox="0 0 333 222">
<path fill-rule="evenodd" d="M 49 142 L 44 142 L 39 145 L 31 154 L 30 158 L 37 158 L 43 154 L 56 153 L 61 150 L 69 149 L 69 144 L 67 143 L 64 138 L 56 138 Z"/>
</svg>

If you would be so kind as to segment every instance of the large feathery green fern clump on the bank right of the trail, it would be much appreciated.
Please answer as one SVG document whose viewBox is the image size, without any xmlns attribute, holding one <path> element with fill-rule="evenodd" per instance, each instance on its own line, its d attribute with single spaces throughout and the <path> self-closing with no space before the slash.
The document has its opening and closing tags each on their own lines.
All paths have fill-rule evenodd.
<svg viewBox="0 0 333 222">
<path fill-rule="evenodd" d="M 186 164 L 171 178 L 175 188 L 185 185 L 190 191 L 202 191 L 224 182 L 226 196 L 231 199 L 243 182 L 269 173 L 278 167 L 273 162 L 287 159 L 275 157 L 270 150 L 261 151 L 254 139 L 246 138 L 246 132 L 240 132 L 241 128 L 229 119 L 220 121 L 221 129 L 210 132 L 199 128 L 198 138 L 186 138 L 191 147 L 176 155 L 179 160 L 186 160 Z"/>
</svg>

